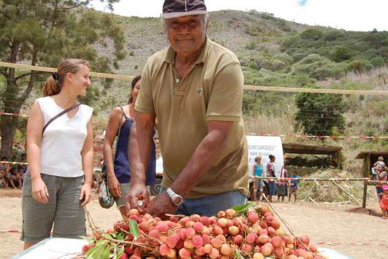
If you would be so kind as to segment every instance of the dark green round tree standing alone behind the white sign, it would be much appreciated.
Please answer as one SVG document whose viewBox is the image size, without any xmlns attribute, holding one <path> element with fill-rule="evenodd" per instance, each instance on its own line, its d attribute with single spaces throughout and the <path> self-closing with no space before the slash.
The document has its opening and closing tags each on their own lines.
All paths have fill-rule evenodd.
<svg viewBox="0 0 388 259">
<path fill-rule="evenodd" d="M 308 135 L 335 135 L 345 129 L 345 106 L 341 95 L 298 93 L 295 97 L 296 128 Z"/>
</svg>

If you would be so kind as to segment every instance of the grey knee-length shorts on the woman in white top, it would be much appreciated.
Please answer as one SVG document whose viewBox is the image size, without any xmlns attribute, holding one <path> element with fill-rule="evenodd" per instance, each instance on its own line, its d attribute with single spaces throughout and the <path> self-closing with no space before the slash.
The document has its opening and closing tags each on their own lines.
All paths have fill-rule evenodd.
<svg viewBox="0 0 388 259">
<path fill-rule="evenodd" d="M 86 236 L 84 208 L 80 207 L 84 177 L 56 177 L 49 174 L 41 174 L 41 177 L 49 192 L 47 204 L 38 203 L 32 198 L 30 173 L 27 172 L 24 177 L 21 240 L 36 244 L 49 238 L 53 223 L 53 237 Z"/>
</svg>

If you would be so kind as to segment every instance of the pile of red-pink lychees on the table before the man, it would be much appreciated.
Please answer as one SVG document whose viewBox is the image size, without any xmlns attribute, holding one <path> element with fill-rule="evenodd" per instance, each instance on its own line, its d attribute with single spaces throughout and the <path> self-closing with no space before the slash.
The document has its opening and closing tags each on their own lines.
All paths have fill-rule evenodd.
<svg viewBox="0 0 388 259">
<path fill-rule="evenodd" d="M 128 221 L 135 220 L 139 236 L 130 232 Z M 113 247 L 124 247 L 121 259 L 183 258 L 284 258 L 324 259 L 308 236 L 295 237 L 280 229 L 280 222 L 269 207 L 251 207 L 237 214 L 229 209 L 217 216 L 170 216 L 167 221 L 130 210 L 125 221 L 115 223 L 105 233 L 96 232 L 86 253 L 98 240 L 122 233 L 123 240 L 109 240 Z M 113 238 L 112 238 L 113 239 Z"/>
</svg>

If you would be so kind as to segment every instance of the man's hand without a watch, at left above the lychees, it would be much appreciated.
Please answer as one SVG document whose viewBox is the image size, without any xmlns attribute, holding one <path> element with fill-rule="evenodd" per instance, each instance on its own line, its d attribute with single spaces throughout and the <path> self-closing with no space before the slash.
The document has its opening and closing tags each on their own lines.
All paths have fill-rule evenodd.
<svg viewBox="0 0 388 259">
<path fill-rule="evenodd" d="M 142 201 L 142 205 L 139 205 L 139 201 Z M 142 183 L 134 183 L 130 185 L 128 194 L 126 195 L 126 209 L 137 209 L 139 212 L 149 207 L 150 194 L 146 188 L 146 185 Z"/>
</svg>

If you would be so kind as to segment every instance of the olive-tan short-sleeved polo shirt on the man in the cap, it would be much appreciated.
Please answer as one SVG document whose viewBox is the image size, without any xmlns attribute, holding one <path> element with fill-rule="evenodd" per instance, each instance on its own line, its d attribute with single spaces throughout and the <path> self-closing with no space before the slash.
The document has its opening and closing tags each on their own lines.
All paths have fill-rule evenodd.
<svg viewBox="0 0 388 259">
<path fill-rule="evenodd" d="M 207 135 L 208 121 L 233 122 L 227 145 L 186 198 L 249 189 L 247 139 L 242 120 L 244 77 L 238 58 L 225 47 L 207 41 L 185 78 L 174 67 L 176 53 L 163 49 L 148 58 L 141 75 L 135 109 L 155 113 L 163 157 L 164 188 L 185 168 Z"/>
</svg>

